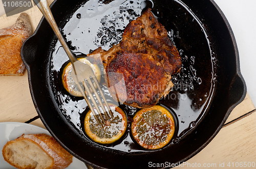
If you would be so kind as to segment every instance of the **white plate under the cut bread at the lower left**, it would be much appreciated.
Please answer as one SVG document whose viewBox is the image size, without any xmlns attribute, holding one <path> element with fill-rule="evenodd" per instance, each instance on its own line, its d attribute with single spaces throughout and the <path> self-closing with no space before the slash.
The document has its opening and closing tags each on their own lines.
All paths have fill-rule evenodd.
<svg viewBox="0 0 256 169">
<path fill-rule="evenodd" d="M 45 133 L 50 135 L 50 133 L 43 128 L 34 126 L 27 123 L 18 122 L 2 122 L 0 123 L 0 169 L 15 169 L 8 162 L 4 160 L 2 155 L 2 150 L 7 142 L 19 137 L 22 134 L 39 134 Z M 87 168 L 87 166 L 77 158 L 73 157 L 73 162 L 67 167 L 67 169 L 82 169 Z M 88 168 L 87 168 L 88 169 Z"/>
</svg>

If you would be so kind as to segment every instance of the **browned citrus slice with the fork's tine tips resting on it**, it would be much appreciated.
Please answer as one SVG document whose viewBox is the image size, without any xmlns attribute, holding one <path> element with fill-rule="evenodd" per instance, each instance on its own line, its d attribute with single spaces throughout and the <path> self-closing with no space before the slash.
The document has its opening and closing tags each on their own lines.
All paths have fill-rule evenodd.
<svg viewBox="0 0 256 169">
<path fill-rule="evenodd" d="M 122 137 L 127 128 L 127 118 L 124 111 L 114 104 L 109 104 L 114 114 L 114 119 L 106 120 L 105 124 L 98 124 L 91 110 L 88 111 L 84 119 L 84 130 L 86 134 L 100 144 L 111 144 Z M 106 107 L 105 107 L 106 108 Z M 97 110 L 94 109 L 96 112 Z M 98 116 L 98 115 L 96 115 Z M 102 114 L 104 117 L 104 115 Z M 110 117 L 110 116 L 109 116 Z M 98 116 L 100 119 L 100 117 Z M 104 119 L 106 119 L 104 117 Z"/>
</svg>

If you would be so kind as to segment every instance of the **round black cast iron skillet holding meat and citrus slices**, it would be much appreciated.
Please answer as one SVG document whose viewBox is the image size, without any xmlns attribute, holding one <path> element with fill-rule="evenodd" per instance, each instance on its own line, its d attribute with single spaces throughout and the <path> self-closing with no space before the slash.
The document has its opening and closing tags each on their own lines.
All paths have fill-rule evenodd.
<svg viewBox="0 0 256 169">
<path fill-rule="evenodd" d="M 117 0 L 99 1 L 99 4 L 104 6 L 116 2 Z M 140 1 L 123 2 L 138 5 Z M 87 109 L 86 103 L 81 98 L 69 96 L 61 88 L 59 75 L 62 65 L 65 65 L 68 59 L 65 55 L 56 58 L 60 48 L 56 48 L 57 39 L 44 18 L 41 19 L 35 33 L 22 47 L 21 54 L 28 70 L 31 95 L 40 119 L 61 146 L 93 167 L 146 168 L 152 164 L 167 162 L 173 165 L 161 167 L 169 168 L 182 163 L 197 154 L 214 138 L 231 110 L 245 97 L 246 86 L 240 73 L 237 44 L 225 16 L 214 1 L 152 2 L 153 5 L 149 2 L 147 5 L 152 7 L 152 12 L 165 26 L 169 38 L 180 51 L 183 62 L 181 73 L 173 77 L 176 88 L 159 103 L 172 112 L 177 129 L 170 144 L 160 150 L 143 150 L 136 143 L 132 143 L 133 139 L 129 131 L 116 145 L 110 146 L 95 144 L 83 133 L 81 124 Z M 122 5 L 126 6 L 125 3 Z M 77 31 L 69 34 L 65 30 L 65 25 L 74 18 L 80 19 L 83 15 L 76 11 L 86 5 L 87 2 L 81 0 L 75 2 L 56 0 L 51 5 L 57 24 L 60 29 L 63 29 L 70 47 L 78 53 L 88 53 L 89 50 L 78 50 L 75 42 L 80 42 L 79 38 L 72 40 L 72 33 Z M 129 17 L 138 16 L 135 10 L 127 8 L 119 10 L 129 14 Z M 132 18 L 126 17 L 126 19 Z M 104 19 L 101 21 L 103 25 Z M 88 22 L 84 27 L 90 24 L 92 22 Z M 123 28 L 114 29 L 111 32 L 107 26 L 97 29 L 99 32 L 100 30 L 103 33 L 109 31 L 112 34 L 123 30 Z M 75 26 L 73 30 L 76 29 Z M 90 28 L 87 27 L 87 29 Z M 88 32 L 90 33 L 90 30 Z M 82 33 L 85 31 L 83 30 Z M 110 43 L 104 40 L 110 34 L 105 33 L 105 35 L 107 36 L 95 35 L 95 42 L 92 43 L 96 46 L 108 47 Z M 113 37 L 116 36 L 118 35 L 112 36 L 112 42 Z M 83 36 L 80 36 L 80 39 L 82 38 Z M 97 41 L 97 38 L 101 41 Z M 114 40 L 118 41 L 118 39 Z M 82 42 L 84 40 L 80 43 Z M 75 104 L 80 106 L 78 112 L 72 111 L 74 107 L 67 105 L 69 102 L 79 103 Z M 137 111 L 128 106 L 122 106 L 122 108 L 131 118 Z M 186 119 L 184 115 L 188 118 Z M 124 148 L 121 150 L 117 145 L 123 145 Z"/>
</svg>

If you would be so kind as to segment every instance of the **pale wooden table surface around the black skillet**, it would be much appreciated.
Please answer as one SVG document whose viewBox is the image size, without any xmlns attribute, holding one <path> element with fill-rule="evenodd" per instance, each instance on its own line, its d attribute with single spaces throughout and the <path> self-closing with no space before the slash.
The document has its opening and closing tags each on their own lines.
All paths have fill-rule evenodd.
<svg viewBox="0 0 256 169">
<path fill-rule="evenodd" d="M 42 14 L 37 7 L 25 12 L 29 14 L 34 31 Z M 14 24 L 18 16 L 0 16 L 0 29 Z M 0 76 L 0 86 L 0 122 L 30 123 L 45 128 L 31 99 L 27 72 L 24 76 Z M 178 167 L 252 168 L 248 165 L 253 163 L 256 167 L 256 110 L 247 93 L 217 136 L 201 152 Z"/>
</svg>

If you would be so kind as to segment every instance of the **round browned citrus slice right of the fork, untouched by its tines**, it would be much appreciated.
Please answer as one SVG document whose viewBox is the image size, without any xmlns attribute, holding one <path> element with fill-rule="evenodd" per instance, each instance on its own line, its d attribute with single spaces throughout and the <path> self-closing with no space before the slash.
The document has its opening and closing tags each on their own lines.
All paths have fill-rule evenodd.
<svg viewBox="0 0 256 169">
<path fill-rule="evenodd" d="M 133 118 L 133 137 L 145 149 L 164 147 L 172 139 L 174 131 L 173 116 L 160 105 L 141 109 Z"/>
</svg>

